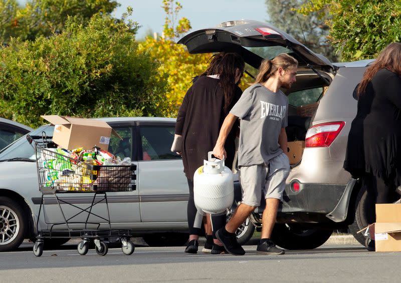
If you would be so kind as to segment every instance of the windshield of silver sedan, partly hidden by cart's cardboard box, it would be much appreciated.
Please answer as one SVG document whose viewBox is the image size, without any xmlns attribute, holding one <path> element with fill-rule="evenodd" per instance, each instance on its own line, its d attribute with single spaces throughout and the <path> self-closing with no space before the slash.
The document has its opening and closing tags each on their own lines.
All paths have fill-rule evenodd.
<svg viewBox="0 0 401 283">
<path fill-rule="evenodd" d="M 54 126 L 45 125 L 33 130 L 29 135 L 42 136 L 42 133 L 44 132 L 47 137 L 51 137 L 53 135 L 53 130 Z M 0 160 L 21 160 L 24 158 L 35 161 L 35 150 L 32 145 L 29 144 L 27 135 L 21 137 L 0 151 Z"/>
</svg>

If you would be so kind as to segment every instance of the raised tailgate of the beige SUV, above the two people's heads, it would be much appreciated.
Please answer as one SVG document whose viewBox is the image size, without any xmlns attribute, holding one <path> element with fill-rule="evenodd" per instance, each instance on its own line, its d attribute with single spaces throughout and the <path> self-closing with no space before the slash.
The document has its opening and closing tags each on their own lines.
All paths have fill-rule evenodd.
<svg viewBox="0 0 401 283">
<path fill-rule="evenodd" d="M 255 68 L 259 67 L 266 55 L 262 58 L 249 48 L 283 47 L 292 52 L 289 54 L 300 65 L 334 69 L 327 58 L 314 53 L 289 34 L 267 23 L 253 20 L 229 21 L 216 27 L 197 30 L 181 38 L 178 44 L 184 44 L 192 54 L 236 52 Z"/>
</svg>

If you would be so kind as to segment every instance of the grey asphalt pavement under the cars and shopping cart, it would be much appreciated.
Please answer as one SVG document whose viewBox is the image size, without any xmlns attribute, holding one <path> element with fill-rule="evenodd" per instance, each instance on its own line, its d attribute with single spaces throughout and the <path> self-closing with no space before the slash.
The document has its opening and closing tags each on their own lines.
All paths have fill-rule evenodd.
<svg viewBox="0 0 401 283">
<path fill-rule="evenodd" d="M 184 247 L 137 246 L 131 255 L 120 248 L 99 256 L 79 255 L 76 244 L 45 250 L 32 243 L 0 253 L 0 282 L 395 282 L 401 253 L 368 252 L 359 244 L 322 245 L 287 250 L 284 255 L 257 255 L 256 245 L 243 256 L 186 254 Z"/>
</svg>

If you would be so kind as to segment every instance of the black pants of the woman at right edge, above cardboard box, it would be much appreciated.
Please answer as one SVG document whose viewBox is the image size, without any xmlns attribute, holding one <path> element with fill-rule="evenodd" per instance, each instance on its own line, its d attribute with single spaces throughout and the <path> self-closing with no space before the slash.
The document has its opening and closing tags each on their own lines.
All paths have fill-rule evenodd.
<svg viewBox="0 0 401 283">
<path fill-rule="evenodd" d="M 382 179 L 373 174 L 366 174 L 362 178 L 362 186 L 366 187 L 366 202 L 368 209 L 366 217 L 369 224 L 376 221 L 376 203 L 392 203 L 399 199 L 399 195 L 395 192 L 395 183 L 393 178 Z"/>
</svg>

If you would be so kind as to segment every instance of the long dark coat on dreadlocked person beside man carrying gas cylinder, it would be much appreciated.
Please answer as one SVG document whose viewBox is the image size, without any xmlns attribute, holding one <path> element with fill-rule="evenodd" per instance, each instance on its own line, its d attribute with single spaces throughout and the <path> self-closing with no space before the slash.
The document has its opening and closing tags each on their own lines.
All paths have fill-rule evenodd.
<svg viewBox="0 0 401 283">
<path fill-rule="evenodd" d="M 228 113 L 224 111 L 224 92 L 219 79 L 199 77 L 188 89 L 178 110 L 175 134 L 182 135 L 181 154 L 184 172 L 193 180 L 195 170 L 208 159 L 219 137 L 220 128 Z M 242 91 L 236 93 L 229 110 L 240 99 Z M 235 154 L 235 137 L 239 123 L 236 121 L 227 137 L 225 165 L 232 168 Z"/>
</svg>

